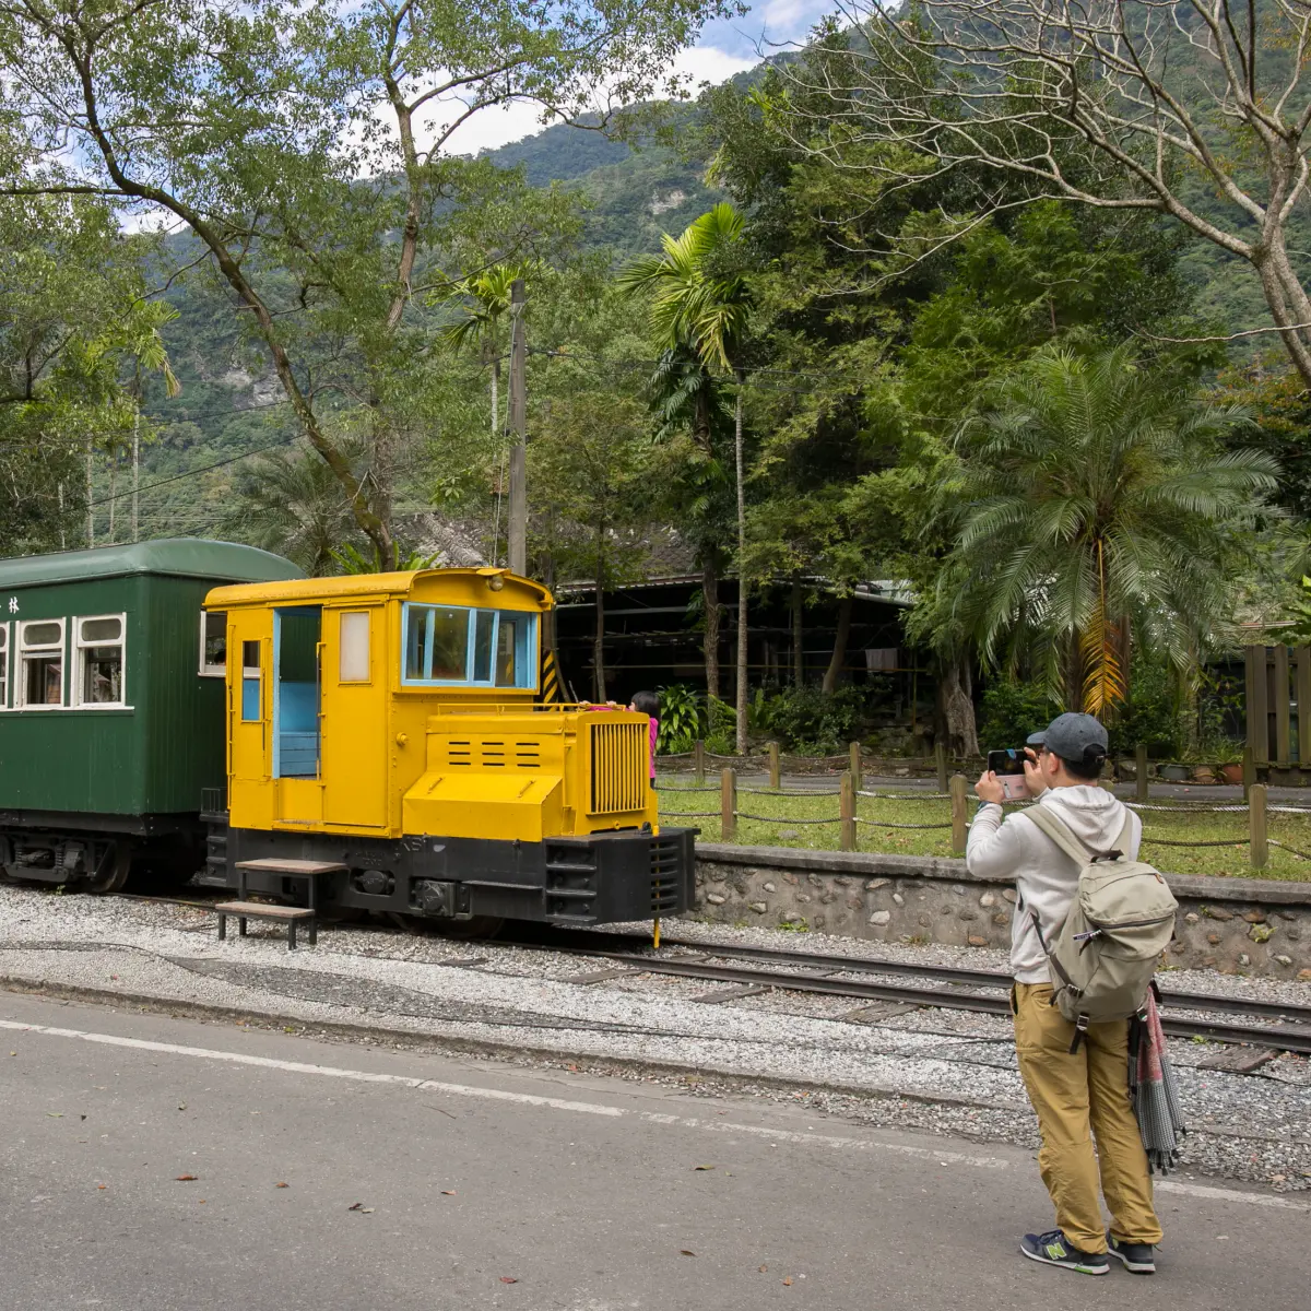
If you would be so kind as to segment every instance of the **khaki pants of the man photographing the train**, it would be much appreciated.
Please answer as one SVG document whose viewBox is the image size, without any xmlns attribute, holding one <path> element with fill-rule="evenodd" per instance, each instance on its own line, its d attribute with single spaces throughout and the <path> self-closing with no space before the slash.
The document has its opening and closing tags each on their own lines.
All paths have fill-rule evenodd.
<svg viewBox="0 0 1311 1311">
<path fill-rule="evenodd" d="M 1110 1232 L 1126 1243 L 1155 1245 L 1160 1223 L 1129 1100 L 1129 1023 L 1089 1025 L 1071 1053 L 1075 1029 L 1051 1006 L 1049 983 L 1016 983 L 1013 1009 L 1020 1074 L 1042 1134 L 1038 1169 L 1055 1203 L 1057 1224 L 1080 1251 L 1106 1251 L 1100 1172 Z"/>
</svg>

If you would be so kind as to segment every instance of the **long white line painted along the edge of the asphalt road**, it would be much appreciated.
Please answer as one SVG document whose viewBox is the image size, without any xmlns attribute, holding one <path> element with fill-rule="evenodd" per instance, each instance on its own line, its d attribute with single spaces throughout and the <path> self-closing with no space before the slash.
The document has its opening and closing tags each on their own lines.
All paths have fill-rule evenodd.
<svg viewBox="0 0 1311 1311">
<path fill-rule="evenodd" d="M 229 1065 L 256 1066 L 262 1070 L 281 1070 L 287 1074 L 323 1075 L 329 1079 L 353 1079 L 357 1083 L 393 1084 L 422 1092 L 444 1092 L 454 1097 L 475 1097 L 484 1101 L 510 1101 L 526 1106 L 547 1106 L 552 1110 L 568 1110 L 586 1116 L 610 1116 L 612 1118 L 641 1120 L 653 1125 L 674 1125 L 680 1129 L 711 1130 L 728 1134 L 750 1134 L 767 1138 L 770 1142 L 789 1143 L 802 1147 L 838 1147 L 843 1151 L 891 1152 L 899 1156 L 915 1156 L 919 1160 L 935 1162 L 940 1165 L 969 1165 L 975 1169 L 1008 1169 L 1011 1163 L 1000 1156 L 983 1156 L 970 1152 L 916 1147 L 910 1143 L 889 1143 L 872 1138 L 844 1138 L 838 1134 L 798 1133 L 792 1129 L 771 1129 L 768 1125 L 742 1125 L 730 1120 L 699 1120 L 694 1116 L 661 1114 L 652 1110 L 628 1110 L 623 1106 L 607 1106 L 595 1101 L 570 1101 L 564 1097 L 540 1097 L 530 1092 L 509 1092 L 503 1088 L 479 1088 L 465 1083 L 444 1083 L 438 1079 L 416 1079 L 400 1074 L 375 1074 L 368 1070 L 347 1070 L 341 1066 L 309 1065 L 304 1061 L 279 1061 L 274 1057 L 249 1055 L 244 1051 L 223 1051 L 216 1047 L 190 1047 L 180 1042 L 152 1042 L 148 1038 L 125 1038 L 114 1033 L 88 1033 L 84 1029 L 59 1029 L 46 1024 L 22 1024 L 18 1020 L 0 1020 L 0 1029 L 18 1033 L 39 1033 L 51 1038 L 77 1038 L 83 1042 L 98 1042 L 111 1047 L 130 1047 L 136 1051 L 157 1051 L 164 1055 L 194 1057 L 202 1061 L 225 1061 Z M 1282 1210 L 1311 1211 L 1311 1205 L 1272 1193 L 1247 1193 L 1232 1188 L 1213 1188 L 1205 1184 L 1188 1184 L 1183 1180 L 1162 1179 L 1155 1181 L 1158 1192 L 1181 1193 L 1203 1201 L 1242 1202 L 1248 1206 L 1274 1206 Z"/>
</svg>

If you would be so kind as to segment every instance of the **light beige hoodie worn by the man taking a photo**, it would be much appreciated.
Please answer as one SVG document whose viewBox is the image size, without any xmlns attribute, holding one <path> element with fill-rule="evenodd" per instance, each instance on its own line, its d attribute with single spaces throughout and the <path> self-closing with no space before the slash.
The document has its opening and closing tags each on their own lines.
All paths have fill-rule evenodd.
<svg viewBox="0 0 1311 1311">
<path fill-rule="evenodd" d="M 1037 804 L 1063 819 L 1089 855 L 1112 848 L 1127 815 L 1125 856 L 1138 859 L 1142 821 L 1103 788 L 1047 788 Z M 1002 808 L 991 802 L 979 806 L 970 825 L 965 864 L 979 878 L 1013 880 L 1019 905 L 1011 922 L 1011 971 L 1019 983 L 1050 983 L 1047 953 L 1029 911 L 1038 912 L 1042 935 L 1050 943 L 1070 914 L 1079 867 L 1023 810 L 1003 821 Z"/>
</svg>

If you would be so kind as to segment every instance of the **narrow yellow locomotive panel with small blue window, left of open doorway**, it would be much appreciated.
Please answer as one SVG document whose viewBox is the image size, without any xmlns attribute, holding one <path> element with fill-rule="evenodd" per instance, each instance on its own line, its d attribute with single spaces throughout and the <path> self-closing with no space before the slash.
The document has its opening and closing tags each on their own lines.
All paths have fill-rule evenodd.
<svg viewBox="0 0 1311 1311">
<path fill-rule="evenodd" d="M 269 829 L 274 818 L 270 730 L 273 612 L 228 616 L 228 806 L 236 829 Z"/>
</svg>

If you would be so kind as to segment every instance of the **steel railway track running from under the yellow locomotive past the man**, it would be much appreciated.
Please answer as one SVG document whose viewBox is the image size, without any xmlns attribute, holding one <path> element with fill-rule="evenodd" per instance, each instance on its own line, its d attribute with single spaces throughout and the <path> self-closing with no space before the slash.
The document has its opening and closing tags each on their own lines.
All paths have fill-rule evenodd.
<svg viewBox="0 0 1311 1311">
<path fill-rule="evenodd" d="M 199 898 L 125 894 L 134 899 L 208 909 Z M 340 927 L 350 928 L 350 923 Z M 361 926 L 363 927 L 363 926 Z M 370 922 L 370 928 L 383 927 Z M 1011 978 L 996 970 L 916 965 L 822 952 L 783 950 L 739 944 L 707 944 L 665 937 L 659 954 L 645 935 L 606 929 L 535 929 L 519 936 L 468 939 L 471 948 L 514 947 L 524 950 L 566 952 L 604 960 L 620 969 L 599 971 L 595 982 L 623 974 L 662 974 L 711 983 L 732 983 L 759 991 L 791 991 L 844 996 L 867 1004 L 884 1002 L 1006 1016 L 1011 1012 Z M 644 949 L 640 949 L 644 948 Z M 676 953 L 675 953 L 676 952 Z M 741 964 L 734 964 L 741 962 Z M 855 977 L 852 977 L 855 975 Z M 868 975 L 861 978 L 860 975 Z M 906 982 L 901 982 L 905 979 Z M 895 981 L 895 982 L 894 982 Z M 743 991 L 739 995 L 750 995 Z M 1162 1027 L 1171 1037 L 1249 1044 L 1311 1055 L 1311 1006 L 1248 1000 L 1209 992 L 1162 990 Z M 730 998 L 725 996 L 724 1000 Z M 1183 1012 L 1183 1013 L 1180 1013 Z M 1239 1023 L 1217 1016 L 1243 1016 L 1265 1023 Z"/>
</svg>

